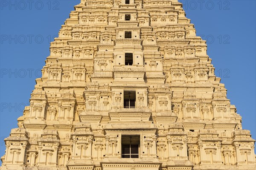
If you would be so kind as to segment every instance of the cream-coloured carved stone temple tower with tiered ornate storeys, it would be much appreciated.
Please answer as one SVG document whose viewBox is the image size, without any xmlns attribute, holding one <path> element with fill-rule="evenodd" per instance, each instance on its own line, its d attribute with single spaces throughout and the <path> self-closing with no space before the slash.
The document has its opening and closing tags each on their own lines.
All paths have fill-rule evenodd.
<svg viewBox="0 0 256 170">
<path fill-rule="evenodd" d="M 81 0 L 1 170 L 255 170 L 254 142 L 177 0 Z"/>
</svg>

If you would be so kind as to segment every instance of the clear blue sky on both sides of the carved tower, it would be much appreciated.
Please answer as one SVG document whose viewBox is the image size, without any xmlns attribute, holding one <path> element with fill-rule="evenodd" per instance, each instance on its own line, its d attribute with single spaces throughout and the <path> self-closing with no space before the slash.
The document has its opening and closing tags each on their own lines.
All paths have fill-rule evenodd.
<svg viewBox="0 0 256 170">
<path fill-rule="evenodd" d="M 0 156 L 17 127 L 58 34 L 79 0 L 0 0 Z M 215 74 L 256 139 L 255 0 L 180 0 L 197 35 L 207 40 Z"/>
</svg>

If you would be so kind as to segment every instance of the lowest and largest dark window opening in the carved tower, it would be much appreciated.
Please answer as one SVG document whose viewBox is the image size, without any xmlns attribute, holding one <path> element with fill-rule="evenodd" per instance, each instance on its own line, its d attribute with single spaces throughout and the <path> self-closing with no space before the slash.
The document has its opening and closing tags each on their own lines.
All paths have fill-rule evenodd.
<svg viewBox="0 0 256 170">
<path fill-rule="evenodd" d="M 122 135 L 122 158 L 139 158 L 140 136 Z"/>
</svg>

